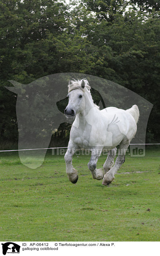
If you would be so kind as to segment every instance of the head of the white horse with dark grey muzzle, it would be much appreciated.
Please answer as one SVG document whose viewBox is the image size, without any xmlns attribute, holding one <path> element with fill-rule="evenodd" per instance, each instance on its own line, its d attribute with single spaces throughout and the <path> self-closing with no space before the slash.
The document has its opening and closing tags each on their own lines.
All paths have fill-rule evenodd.
<svg viewBox="0 0 160 256">
<path fill-rule="evenodd" d="M 70 81 L 68 85 L 68 105 L 64 110 L 64 114 L 67 118 L 72 119 L 76 114 L 84 111 L 85 101 L 84 101 L 84 88 L 89 87 L 88 81 L 86 79 L 78 81 Z"/>
</svg>

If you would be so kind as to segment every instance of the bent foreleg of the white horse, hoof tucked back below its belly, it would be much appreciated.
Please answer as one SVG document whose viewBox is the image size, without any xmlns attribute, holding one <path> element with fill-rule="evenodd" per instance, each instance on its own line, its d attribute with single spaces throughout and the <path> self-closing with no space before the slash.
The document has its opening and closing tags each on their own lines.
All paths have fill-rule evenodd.
<svg viewBox="0 0 160 256">
<path fill-rule="evenodd" d="M 101 155 L 102 149 L 96 149 L 96 152 L 92 151 L 90 161 L 88 163 L 88 169 L 92 173 L 93 179 L 102 180 L 103 179 L 103 168 L 96 169 L 96 164 L 99 156 Z"/>
</svg>

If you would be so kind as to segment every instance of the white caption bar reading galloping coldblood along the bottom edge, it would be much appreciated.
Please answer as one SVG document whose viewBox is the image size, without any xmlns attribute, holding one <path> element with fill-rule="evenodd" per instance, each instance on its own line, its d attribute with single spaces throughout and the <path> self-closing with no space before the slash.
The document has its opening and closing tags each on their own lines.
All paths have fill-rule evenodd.
<svg viewBox="0 0 160 256">
<path fill-rule="evenodd" d="M 1 255 L 157 255 L 160 242 L 1 242 Z M 2 250 L 4 250 L 2 252 Z M 6 250 L 6 251 L 5 251 Z M 19 250 L 19 251 L 18 251 Z M 45 254 L 44 254 L 45 253 Z"/>
</svg>

